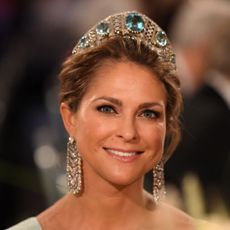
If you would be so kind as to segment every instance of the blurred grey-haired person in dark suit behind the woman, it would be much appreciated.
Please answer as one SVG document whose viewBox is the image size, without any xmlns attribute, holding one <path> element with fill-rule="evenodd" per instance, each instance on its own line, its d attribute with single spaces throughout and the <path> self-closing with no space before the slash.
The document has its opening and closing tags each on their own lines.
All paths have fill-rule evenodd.
<svg viewBox="0 0 230 230">
<path fill-rule="evenodd" d="M 166 180 L 182 191 L 185 175 L 195 174 L 203 214 L 230 208 L 229 25 L 229 1 L 200 0 L 182 6 L 171 28 L 185 108 Z"/>
</svg>

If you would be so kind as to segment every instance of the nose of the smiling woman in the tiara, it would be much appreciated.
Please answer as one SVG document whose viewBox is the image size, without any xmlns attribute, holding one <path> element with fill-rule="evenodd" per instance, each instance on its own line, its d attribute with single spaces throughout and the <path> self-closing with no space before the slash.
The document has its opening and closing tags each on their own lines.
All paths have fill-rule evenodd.
<svg viewBox="0 0 230 230">
<path fill-rule="evenodd" d="M 136 141 L 139 135 L 135 120 L 130 117 L 121 118 L 117 136 L 122 138 L 125 142 Z"/>
</svg>

